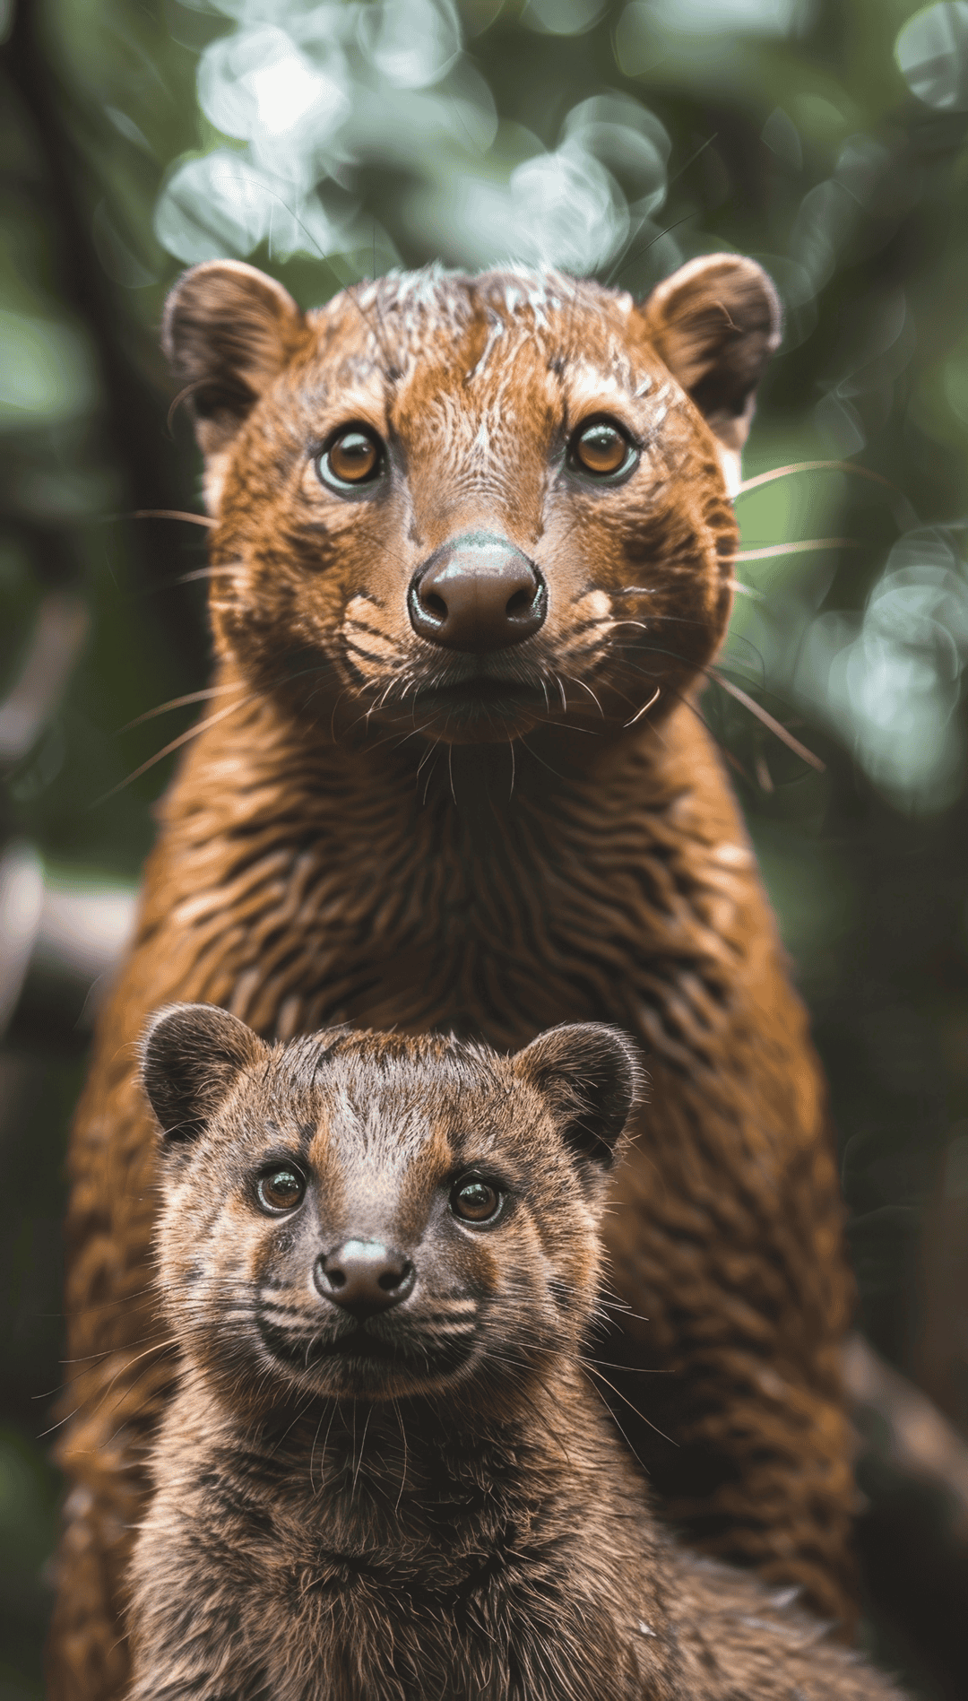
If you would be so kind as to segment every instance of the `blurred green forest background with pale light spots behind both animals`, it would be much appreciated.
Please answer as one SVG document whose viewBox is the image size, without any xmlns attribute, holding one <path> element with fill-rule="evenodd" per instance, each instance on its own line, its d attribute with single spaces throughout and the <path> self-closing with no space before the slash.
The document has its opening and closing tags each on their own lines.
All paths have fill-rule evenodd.
<svg viewBox="0 0 968 1701">
<path fill-rule="evenodd" d="M 646 293 L 721 248 L 788 316 L 721 672 L 815 762 L 704 713 L 832 1084 L 864 1635 L 963 1701 L 968 3 L 0 0 L 0 1701 L 43 1692 L 66 1126 L 196 714 L 151 711 L 208 675 L 204 531 L 153 517 L 201 507 L 165 291 L 238 255 L 305 306 L 432 259 Z"/>
</svg>

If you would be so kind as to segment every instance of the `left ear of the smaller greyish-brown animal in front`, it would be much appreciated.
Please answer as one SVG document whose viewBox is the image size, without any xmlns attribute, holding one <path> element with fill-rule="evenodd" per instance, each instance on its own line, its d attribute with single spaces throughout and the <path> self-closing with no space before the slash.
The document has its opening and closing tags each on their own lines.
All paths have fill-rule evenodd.
<svg viewBox="0 0 968 1701">
<path fill-rule="evenodd" d="M 238 1015 L 211 1004 L 172 1004 L 151 1017 L 141 1041 L 141 1085 L 165 1145 L 201 1135 L 233 1080 L 269 1056 Z"/>
</svg>

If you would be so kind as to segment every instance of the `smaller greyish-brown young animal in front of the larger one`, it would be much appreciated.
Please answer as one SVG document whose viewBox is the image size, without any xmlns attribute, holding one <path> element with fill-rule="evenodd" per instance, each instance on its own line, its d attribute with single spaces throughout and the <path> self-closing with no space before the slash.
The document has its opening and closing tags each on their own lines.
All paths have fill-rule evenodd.
<svg viewBox="0 0 968 1701">
<path fill-rule="evenodd" d="M 182 1369 L 133 1701 L 895 1694 L 660 1531 L 584 1371 L 628 1041 L 269 1048 L 175 1005 L 143 1055 Z"/>
</svg>

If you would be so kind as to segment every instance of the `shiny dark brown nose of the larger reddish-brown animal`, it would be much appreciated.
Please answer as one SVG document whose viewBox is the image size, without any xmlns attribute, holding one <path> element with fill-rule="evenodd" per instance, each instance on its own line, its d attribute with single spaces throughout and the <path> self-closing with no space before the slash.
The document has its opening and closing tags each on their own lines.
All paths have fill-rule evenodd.
<svg viewBox="0 0 968 1701">
<path fill-rule="evenodd" d="M 446 650 L 507 650 L 539 631 L 548 592 L 507 538 L 464 532 L 419 568 L 408 604 L 413 631 Z"/>
</svg>

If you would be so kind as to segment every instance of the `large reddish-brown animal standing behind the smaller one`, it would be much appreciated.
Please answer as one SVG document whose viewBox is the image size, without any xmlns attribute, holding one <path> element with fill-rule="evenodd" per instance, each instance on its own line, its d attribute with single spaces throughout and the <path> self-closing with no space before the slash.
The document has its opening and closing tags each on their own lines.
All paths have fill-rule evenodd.
<svg viewBox="0 0 968 1701">
<path fill-rule="evenodd" d="M 126 1682 L 129 1531 L 172 1380 L 134 1051 L 182 998 L 282 1039 L 631 1031 L 653 1111 L 606 1221 L 624 1310 L 602 1356 L 636 1369 L 607 1376 L 655 1427 L 621 1402 L 619 1422 L 691 1541 L 849 1616 L 839 1177 L 694 701 L 777 337 L 769 279 L 735 255 L 643 306 L 534 272 L 386 277 L 306 315 L 235 262 L 177 284 L 218 670 L 71 1143 L 54 1701 Z"/>
</svg>

